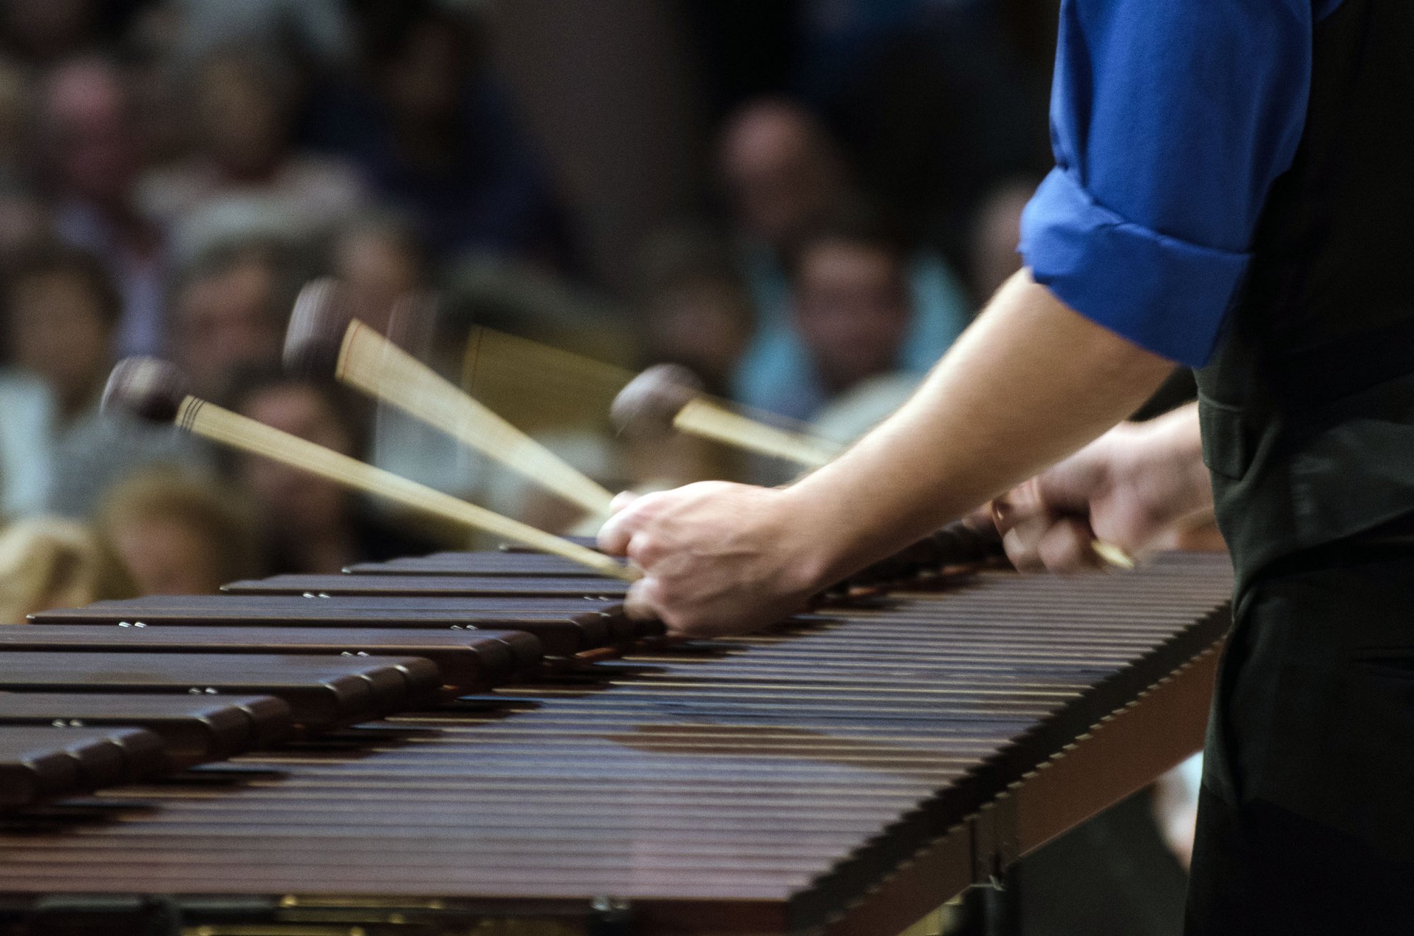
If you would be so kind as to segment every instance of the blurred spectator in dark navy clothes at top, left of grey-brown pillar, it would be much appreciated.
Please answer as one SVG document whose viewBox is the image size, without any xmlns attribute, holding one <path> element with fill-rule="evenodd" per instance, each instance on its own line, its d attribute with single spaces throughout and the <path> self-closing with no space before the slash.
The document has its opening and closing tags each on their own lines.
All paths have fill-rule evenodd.
<svg viewBox="0 0 1414 936">
<path fill-rule="evenodd" d="M 546 174 L 481 65 L 469 16 L 434 0 L 351 6 L 362 69 L 317 95 L 311 144 L 354 160 L 440 256 L 553 253 Z"/>
</svg>

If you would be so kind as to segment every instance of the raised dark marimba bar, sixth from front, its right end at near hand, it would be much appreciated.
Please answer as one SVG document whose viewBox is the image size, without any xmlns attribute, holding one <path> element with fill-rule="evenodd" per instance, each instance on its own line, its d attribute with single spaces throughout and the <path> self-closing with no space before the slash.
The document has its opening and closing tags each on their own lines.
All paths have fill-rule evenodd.
<svg viewBox="0 0 1414 936">
<path fill-rule="evenodd" d="M 273 575 L 222 585 L 236 595 L 546 595 L 622 598 L 618 578 L 513 578 L 495 575 Z"/>
</svg>

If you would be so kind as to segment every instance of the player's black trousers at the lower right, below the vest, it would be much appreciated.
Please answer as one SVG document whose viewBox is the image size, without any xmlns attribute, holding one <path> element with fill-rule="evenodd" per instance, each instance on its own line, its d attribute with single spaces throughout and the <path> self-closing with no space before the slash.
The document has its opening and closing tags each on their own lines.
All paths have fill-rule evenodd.
<svg viewBox="0 0 1414 936">
<path fill-rule="evenodd" d="M 1234 618 L 1185 932 L 1414 933 L 1414 543 L 1285 563 Z"/>
</svg>

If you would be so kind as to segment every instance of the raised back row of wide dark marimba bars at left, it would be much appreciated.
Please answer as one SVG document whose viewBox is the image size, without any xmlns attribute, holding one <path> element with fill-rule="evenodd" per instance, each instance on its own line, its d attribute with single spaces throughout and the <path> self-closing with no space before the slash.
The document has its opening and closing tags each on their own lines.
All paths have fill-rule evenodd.
<svg viewBox="0 0 1414 936">
<path fill-rule="evenodd" d="M 397 574 L 419 561 L 467 574 Z M 0 628 L 0 807 L 407 711 L 662 633 L 622 615 L 622 583 L 553 556 L 372 570 L 103 601 Z"/>
</svg>

